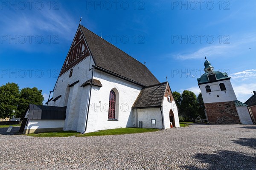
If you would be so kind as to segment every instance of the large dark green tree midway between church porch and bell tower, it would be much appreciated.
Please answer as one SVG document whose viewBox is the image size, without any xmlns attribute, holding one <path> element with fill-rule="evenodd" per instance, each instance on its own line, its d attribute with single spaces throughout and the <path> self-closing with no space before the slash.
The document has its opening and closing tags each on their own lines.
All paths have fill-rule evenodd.
<svg viewBox="0 0 256 170">
<path fill-rule="evenodd" d="M 197 98 L 192 91 L 183 91 L 181 94 L 180 112 L 181 116 L 186 120 L 190 120 L 197 116 Z"/>
</svg>

